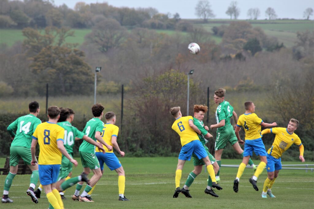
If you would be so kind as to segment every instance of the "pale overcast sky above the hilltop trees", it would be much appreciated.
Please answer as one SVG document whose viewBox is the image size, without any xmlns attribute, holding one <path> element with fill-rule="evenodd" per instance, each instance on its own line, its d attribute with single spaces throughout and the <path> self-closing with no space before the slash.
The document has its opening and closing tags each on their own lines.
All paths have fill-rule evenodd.
<svg viewBox="0 0 314 209">
<path fill-rule="evenodd" d="M 75 3 L 85 2 L 102 3 L 107 2 L 114 7 L 129 8 L 156 8 L 160 13 L 179 13 L 181 18 L 197 18 L 195 15 L 195 6 L 198 0 L 54 0 L 55 5 L 60 6 L 63 3 L 69 8 L 74 8 Z M 231 0 L 210 0 L 211 8 L 215 18 L 230 18 L 226 15 L 226 10 Z M 314 8 L 313 0 L 237 0 L 241 10 L 238 19 L 247 19 L 246 12 L 250 8 L 259 8 L 261 15 L 258 19 L 265 19 L 265 10 L 268 7 L 274 8 L 278 18 L 302 19 L 306 8 Z M 313 19 L 313 15 L 311 16 Z"/>
</svg>

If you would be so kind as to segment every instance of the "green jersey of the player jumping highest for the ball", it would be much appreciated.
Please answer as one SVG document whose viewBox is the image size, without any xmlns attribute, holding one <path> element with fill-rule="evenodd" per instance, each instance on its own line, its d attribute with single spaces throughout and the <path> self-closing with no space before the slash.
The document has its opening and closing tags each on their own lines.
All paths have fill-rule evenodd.
<svg viewBox="0 0 314 209">
<path fill-rule="evenodd" d="M 216 121 L 219 123 L 225 119 L 225 126 L 230 124 L 230 118 L 232 117 L 233 107 L 227 101 L 221 102 L 216 109 Z M 225 126 L 219 127 L 218 130 L 225 130 Z"/>
</svg>

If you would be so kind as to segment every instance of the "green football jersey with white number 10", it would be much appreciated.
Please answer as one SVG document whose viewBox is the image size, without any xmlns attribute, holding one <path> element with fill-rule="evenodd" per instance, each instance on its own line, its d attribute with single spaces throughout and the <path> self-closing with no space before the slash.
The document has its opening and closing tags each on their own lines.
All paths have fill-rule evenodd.
<svg viewBox="0 0 314 209">
<path fill-rule="evenodd" d="M 83 138 L 84 133 L 79 131 L 76 127 L 72 126 L 68 121 L 57 123 L 59 126 L 64 128 L 63 144 L 68 153 L 73 153 L 73 147 L 75 137 Z"/>
</svg>

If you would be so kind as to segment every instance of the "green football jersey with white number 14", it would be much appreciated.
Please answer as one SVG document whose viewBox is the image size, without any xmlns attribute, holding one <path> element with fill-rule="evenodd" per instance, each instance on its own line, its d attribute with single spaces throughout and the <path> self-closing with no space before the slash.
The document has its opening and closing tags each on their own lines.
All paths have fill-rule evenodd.
<svg viewBox="0 0 314 209">
<path fill-rule="evenodd" d="M 30 148 L 32 135 L 38 124 L 41 124 L 41 120 L 32 114 L 19 117 L 11 123 L 9 127 L 14 131 L 16 130 L 16 135 L 11 143 L 11 147 L 21 146 Z"/>
</svg>

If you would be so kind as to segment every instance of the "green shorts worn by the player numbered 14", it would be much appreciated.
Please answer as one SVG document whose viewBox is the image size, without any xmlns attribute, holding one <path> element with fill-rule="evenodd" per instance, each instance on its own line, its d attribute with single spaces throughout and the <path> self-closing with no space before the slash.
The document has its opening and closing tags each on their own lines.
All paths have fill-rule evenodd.
<svg viewBox="0 0 314 209">
<path fill-rule="evenodd" d="M 32 154 L 30 148 L 26 147 L 10 147 L 10 166 L 19 165 L 19 159 L 22 158 L 24 163 L 30 165 Z"/>
</svg>

